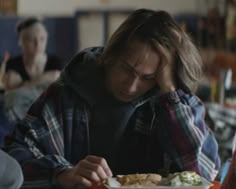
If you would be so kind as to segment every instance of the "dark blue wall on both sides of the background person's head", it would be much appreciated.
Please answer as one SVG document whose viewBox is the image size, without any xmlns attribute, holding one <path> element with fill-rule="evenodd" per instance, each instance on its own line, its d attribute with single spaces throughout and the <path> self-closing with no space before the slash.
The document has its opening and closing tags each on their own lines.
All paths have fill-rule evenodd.
<svg viewBox="0 0 236 189">
<path fill-rule="evenodd" d="M 18 46 L 16 24 L 19 17 L 0 17 L 0 57 L 5 51 L 11 56 L 21 53 Z M 66 63 L 76 52 L 75 22 L 73 17 L 45 17 L 49 38 L 47 51 L 56 54 Z"/>
</svg>

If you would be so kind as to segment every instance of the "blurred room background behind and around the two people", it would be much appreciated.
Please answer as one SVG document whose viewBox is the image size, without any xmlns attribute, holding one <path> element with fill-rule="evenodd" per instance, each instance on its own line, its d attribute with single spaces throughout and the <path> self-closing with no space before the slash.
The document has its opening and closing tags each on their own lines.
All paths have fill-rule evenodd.
<svg viewBox="0 0 236 189">
<path fill-rule="evenodd" d="M 105 45 L 137 8 L 168 11 L 198 46 L 205 76 L 197 93 L 206 105 L 207 123 L 216 134 L 221 156 L 227 159 L 236 130 L 234 0 L 0 0 L 0 60 L 21 53 L 15 29 L 22 18 L 42 18 L 48 31 L 47 52 L 65 65 L 80 49 Z"/>
</svg>

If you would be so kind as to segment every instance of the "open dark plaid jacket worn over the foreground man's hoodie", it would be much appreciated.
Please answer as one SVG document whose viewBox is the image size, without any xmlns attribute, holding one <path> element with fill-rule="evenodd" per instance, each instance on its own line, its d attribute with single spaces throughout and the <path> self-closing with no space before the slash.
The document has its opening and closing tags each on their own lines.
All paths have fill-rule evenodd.
<svg viewBox="0 0 236 189">
<path fill-rule="evenodd" d="M 154 107 L 147 111 L 146 104 Z M 177 90 L 140 103 L 134 129 L 158 128 L 165 153 L 180 170 L 193 170 L 208 180 L 218 173 L 218 145 L 204 121 L 205 108 L 194 95 Z M 63 81 L 52 84 L 17 124 L 9 153 L 21 164 L 24 188 L 50 188 L 53 177 L 89 153 L 90 108 Z M 151 122 L 150 122 L 151 120 Z M 148 127 L 150 128 L 150 127 Z M 153 148 L 153 151 L 158 150 Z"/>
</svg>

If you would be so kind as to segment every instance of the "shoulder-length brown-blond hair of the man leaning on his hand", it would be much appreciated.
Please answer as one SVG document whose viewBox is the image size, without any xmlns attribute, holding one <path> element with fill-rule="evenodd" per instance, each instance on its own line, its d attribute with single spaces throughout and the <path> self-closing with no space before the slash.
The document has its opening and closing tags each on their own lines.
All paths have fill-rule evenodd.
<svg viewBox="0 0 236 189">
<path fill-rule="evenodd" d="M 190 37 L 165 11 L 138 9 L 114 32 L 105 47 L 103 63 L 120 56 L 133 40 L 150 45 L 157 53 L 174 53 L 174 76 L 177 88 L 194 92 L 202 75 L 202 60 Z M 161 49 L 159 47 L 162 47 Z"/>
</svg>

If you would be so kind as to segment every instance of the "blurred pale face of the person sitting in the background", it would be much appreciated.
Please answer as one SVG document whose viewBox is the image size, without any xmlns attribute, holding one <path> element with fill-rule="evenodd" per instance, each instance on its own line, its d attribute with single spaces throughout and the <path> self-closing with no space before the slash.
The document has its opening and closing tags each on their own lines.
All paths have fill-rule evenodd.
<svg viewBox="0 0 236 189">
<path fill-rule="evenodd" d="M 21 33 L 21 45 L 23 52 L 30 56 L 44 53 L 47 45 L 47 32 L 44 26 L 36 23 Z"/>
</svg>

